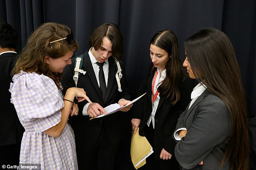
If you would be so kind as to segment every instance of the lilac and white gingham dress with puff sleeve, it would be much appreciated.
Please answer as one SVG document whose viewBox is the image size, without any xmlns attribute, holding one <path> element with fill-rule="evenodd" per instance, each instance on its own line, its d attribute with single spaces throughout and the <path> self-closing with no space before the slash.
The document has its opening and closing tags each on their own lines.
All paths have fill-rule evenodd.
<svg viewBox="0 0 256 170">
<path fill-rule="evenodd" d="M 60 137 L 45 130 L 57 125 L 64 107 L 63 95 L 54 81 L 36 73 L 21 73 L 10 85 L 11 102 L 25 128 L 20 164 L 41 164 L 42 170 L 77 170 L 73 130 L 67 124 Z"/>
</svg>

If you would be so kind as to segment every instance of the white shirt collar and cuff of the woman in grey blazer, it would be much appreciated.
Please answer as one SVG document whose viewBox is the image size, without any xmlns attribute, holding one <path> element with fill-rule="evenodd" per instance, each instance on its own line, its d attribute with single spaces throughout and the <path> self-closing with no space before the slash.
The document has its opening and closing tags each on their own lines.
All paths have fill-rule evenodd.
<svg viewBox="0 0 256 170">
<path fill-rule="evenodd" d="M 197 100 L 197 98 L 204 92 L 204 90 L 206 90 L 206 85 L 202 85 L 201 83 L 197 84 L 197 86 L 195 86 L 195 88 L 193 88 L 193 91 L 191 92 L 191 102 L 189 104 L 189 108 L 192 106 L 192 104 L 195 102 L 195 100 Z M 188 109 L 189 110 L 189 109 Z M 181 130 L 187 130 L 187 128 L 183 127 L 180 128 L 178 130 L 175 131 L 174 133 L 174 138 L 179 141 L 181 138 L 179 136 L 179 131 Z"/>
</svg>

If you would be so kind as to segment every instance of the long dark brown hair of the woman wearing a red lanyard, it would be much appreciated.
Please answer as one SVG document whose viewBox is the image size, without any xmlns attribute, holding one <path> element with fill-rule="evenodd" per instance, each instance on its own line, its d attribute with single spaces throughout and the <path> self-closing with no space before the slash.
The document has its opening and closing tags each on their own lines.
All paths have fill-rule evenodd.
<svg viewBox="0 0 256 170">
<path fill-rule="evenodd" d="M 179 82 L 183 76 L 182 64 L 178 54 L 178 41 L 176 35 L 170 30 L 157 32 L 150 41 L 155 45 L 167 51 L 170 57 L 166 63 L 166 78 L 158 87 L 160 95 L 170 97 L 170 104 L 174 105 L 180 99 Z"/>
</svg>

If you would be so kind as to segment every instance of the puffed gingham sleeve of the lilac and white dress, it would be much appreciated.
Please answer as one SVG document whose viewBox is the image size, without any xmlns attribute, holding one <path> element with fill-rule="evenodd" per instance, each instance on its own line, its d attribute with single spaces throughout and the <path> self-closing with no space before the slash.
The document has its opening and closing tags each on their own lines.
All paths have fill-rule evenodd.
<svg viewBox="0 0 256 170">
<path fill-rule="evenodd" d="M 20 121 L 32 124 L 35 131 L 60 122 L 63 96 L 51 78 L 21 71 L 13 77 L 9 91 Z"/>
</svg>

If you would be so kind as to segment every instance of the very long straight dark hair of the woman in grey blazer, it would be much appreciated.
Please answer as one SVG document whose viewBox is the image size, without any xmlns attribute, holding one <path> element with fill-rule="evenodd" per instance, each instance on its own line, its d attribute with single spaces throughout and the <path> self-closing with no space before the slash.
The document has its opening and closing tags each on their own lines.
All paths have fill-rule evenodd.
<svg viewBox="0 0 256 170">
<path fill-rule="evenodd" d="M 225 33 L 206 28 L 185 41 L 185 51 L 195 77 L 225 102 L 231 121 L 229 143 L 221 166 L 228 160 L 232 170 L 248 169 L 246 100 L 235 51 Z"/>
</svg>

